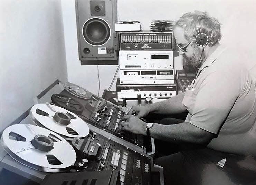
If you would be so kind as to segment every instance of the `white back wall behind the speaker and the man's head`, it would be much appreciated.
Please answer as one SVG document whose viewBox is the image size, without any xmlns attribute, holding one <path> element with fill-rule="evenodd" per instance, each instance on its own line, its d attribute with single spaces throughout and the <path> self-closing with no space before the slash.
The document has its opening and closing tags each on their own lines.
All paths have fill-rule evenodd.
<svg viewBox="0 0 256 185">
<path fill-rule="evenodd" d="M 81 66 L 78 61 L 74 0 L 61 0 L 67 56 L 68 80 L 97 94 L 96 66 Z M 241 60 L 248 68 L 256 62 L 255 2 L 253 0 L 118 0 L 120 20 L 138 20 L 149 30 L 151 20 L 176 20 L 186 12 L 207 11 L 222 23 L 222 43 L 234 48 L 234 54 L 245 54 Z M 117 66 L 99 66 L 101 91 L 111 83 Z M 256 70 L 255 70 L 256 71 Z M 253 74 L 256 78 L 256 74 Z M 254 78 L 254 79 L 255 79 Z M 112 87 L 115 90 L 115 83 Z"/>
</svg>

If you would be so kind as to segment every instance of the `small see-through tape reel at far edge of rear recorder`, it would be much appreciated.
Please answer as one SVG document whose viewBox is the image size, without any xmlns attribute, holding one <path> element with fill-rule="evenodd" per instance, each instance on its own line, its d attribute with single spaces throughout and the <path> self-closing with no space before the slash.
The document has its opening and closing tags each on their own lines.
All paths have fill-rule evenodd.
<svg viewBox="0 0 256 185">
<path fill-rule="evenodd" d="M 63 85 L 64 89 L 71 93 L 72 95 L 75 95 L 79 98 L 84 98 L 84 99 L 90 99 L 92 97 L 92 93 L 89 92 L 88 90 L 84 89 L 83 87 L 80 87 L 76 84 L 72 84 L 70 82 L 66 82 Z"/>
</svg>

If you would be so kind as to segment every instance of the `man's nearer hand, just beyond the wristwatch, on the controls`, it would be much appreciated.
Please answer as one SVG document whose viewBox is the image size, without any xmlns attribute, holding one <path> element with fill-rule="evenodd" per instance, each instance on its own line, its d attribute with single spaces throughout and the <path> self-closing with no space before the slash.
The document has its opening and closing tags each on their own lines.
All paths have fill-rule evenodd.
<svg viewBox="0 0 256 185">
<path fill-rule="evenodd" d="M 125 121 L 121 123 L 122 130 L 129 131 L 134 134 L 147 135 L 146 134 L 146 124 L 140 118 L 133 115 L 124 116 L 121 121 Z"/>
</svg>

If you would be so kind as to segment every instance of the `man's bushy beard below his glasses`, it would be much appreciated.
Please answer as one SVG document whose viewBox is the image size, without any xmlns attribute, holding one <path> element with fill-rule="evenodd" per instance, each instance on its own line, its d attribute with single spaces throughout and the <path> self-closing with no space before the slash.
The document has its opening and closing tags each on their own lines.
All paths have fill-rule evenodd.
<svg viewBox="0 0 256 185">
<path fill-rule="evenodd" d="M 191 57 L 183 54 L 184 70 L 186 72 L 196 72 L 201 66 L 201 61 L 204 59 L 205 53 L 202 53 L 202 51 L 199 50 L 199 47 L 194 50 L 194 53 Z"/>
</svg>

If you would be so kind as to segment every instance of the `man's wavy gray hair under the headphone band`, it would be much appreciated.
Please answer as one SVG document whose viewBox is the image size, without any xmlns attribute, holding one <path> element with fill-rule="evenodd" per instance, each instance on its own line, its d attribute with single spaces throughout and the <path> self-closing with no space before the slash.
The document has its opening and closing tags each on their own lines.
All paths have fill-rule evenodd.
<svg viewBox="0 0 256 185">
<path fill-rule="evenodd" d="M 207 12 L 195 11 L 195 13 L 185 13 L 176 21 L 174 26 L 183 27 L 185 38 L 188 41 L 195 41 L 198 31 L 196 20 L 193 18 L 194 15 L 198 18 L 201 32 L 209 37 L 208 45 L 210 47 L 214 46 L 221 39 L 220 23 L 216 18 L 210 17 Z"/>
</svg>

